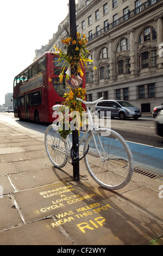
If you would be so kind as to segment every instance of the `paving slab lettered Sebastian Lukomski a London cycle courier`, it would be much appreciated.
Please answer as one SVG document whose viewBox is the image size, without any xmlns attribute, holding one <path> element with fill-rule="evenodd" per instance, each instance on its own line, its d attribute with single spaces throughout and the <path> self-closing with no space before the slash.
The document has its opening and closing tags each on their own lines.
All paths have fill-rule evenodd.
<svg viewBox="0 0 163 256">
<path fill-rule="evenodd" d="M 74 204 L 79 207 L 101 199 L 84 186 L 78 184 L 73 187 L 69 182 L 20 191 L 14 193 L 14 198 L 26 222 L 68 211 Z"/>
</svg>

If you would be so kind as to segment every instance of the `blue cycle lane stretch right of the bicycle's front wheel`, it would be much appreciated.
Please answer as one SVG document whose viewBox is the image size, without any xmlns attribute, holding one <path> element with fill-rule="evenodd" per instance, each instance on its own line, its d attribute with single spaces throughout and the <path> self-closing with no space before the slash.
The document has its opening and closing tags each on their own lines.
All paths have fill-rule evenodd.
<svg viewBox="0 0 163 256">
<path fill-rule="evenodd" d="M 127 142 L 134 157 L 134 167 L 163 175 L 163 149 L 150 145 Z"/>
</svg>

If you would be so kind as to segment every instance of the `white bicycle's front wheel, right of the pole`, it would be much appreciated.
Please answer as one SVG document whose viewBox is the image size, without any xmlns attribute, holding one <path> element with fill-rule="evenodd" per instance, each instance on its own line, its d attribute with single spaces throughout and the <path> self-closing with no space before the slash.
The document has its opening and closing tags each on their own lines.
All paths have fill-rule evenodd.
<svg viewBox="0 0 163 256">
<path fill-rule="evenodd" d="M 99 129 L 89 135 L 84 150 L 85 165 L 92 178 L 102 187 L 118 190 L 128 184 L 133 174 L 134 160 L 127 142 L 117 132 Z"/>
</svg>

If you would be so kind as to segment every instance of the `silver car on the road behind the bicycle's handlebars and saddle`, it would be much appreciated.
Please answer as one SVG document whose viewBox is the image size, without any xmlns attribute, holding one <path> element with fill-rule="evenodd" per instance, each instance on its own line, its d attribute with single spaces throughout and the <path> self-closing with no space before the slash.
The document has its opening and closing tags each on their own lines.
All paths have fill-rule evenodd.
<svg viewBox="0 0 163 256">
<path fill-rule="evenodd" d="M 98 101 L 95 111 L 98 118 L 106 116 L 107 111 L 111 112 L 111 118 L 118 117 L 121 120 L 126 118 L 134 118 L 136 120 L 141 117 L 141 111 L 139 108 L 134 107 L 129 102 L 123 100 Z"/>
</svg>

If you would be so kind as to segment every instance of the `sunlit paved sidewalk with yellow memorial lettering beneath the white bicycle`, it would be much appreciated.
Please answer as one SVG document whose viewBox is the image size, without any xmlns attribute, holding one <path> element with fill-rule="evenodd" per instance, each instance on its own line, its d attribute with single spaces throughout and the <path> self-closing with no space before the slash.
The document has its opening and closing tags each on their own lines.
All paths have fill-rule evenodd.
<svg viewBox="0 0 163 256">
<path fill-rule="evenodd" d="M 108 191 L 83 161 L 80 181 L 72 176 L 43 141 L 0 123 L 0 245 L 163 245 L 161 179 L 134 173 Z"/>
</svg>

